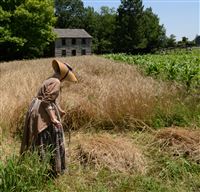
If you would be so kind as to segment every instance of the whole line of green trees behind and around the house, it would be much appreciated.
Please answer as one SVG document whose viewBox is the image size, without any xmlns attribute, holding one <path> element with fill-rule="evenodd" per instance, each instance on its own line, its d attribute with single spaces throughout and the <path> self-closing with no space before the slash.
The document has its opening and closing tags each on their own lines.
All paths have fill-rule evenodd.
<svg viewBox="0 0 200 192">
<path fill-rule="evenodd" d="M 82 0 L 1 0 L 0 60 L 53 56 L 53 28 L 83 28 L 96 54 L 149 53 L 156 49 L 193 45 L 186 37 L 166 36 L 158 15 L 142 0 L 121 0 L 115 10 L 95 11 Z"/>
</svg>

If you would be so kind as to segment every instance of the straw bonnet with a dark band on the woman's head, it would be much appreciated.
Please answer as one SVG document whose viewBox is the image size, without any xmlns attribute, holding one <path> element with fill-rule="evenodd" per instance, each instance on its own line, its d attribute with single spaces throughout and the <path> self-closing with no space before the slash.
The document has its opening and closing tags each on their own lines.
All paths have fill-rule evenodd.
<svg viewBox="0 0 200 192">
<path fill-rule="evenodd" d="M 72 67 L 67 63 L 62 63 L 58 60 L 52 61 L 52 67 L 55 72 L 60 73 L 61 79 L 60 80 L 68 80 L 72 82 L 77 82 L 77 78 L 72 72 Z"/>
</svg>

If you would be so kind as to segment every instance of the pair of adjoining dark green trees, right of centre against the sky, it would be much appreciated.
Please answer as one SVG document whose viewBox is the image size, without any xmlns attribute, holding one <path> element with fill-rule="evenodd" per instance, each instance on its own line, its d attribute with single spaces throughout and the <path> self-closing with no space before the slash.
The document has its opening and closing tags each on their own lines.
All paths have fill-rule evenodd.
<svg viewBox="0 0 200 192">
<path fill-rule="evenodd" d="M 115 51 L 135 53 L 161 47 L 165 30 L 151 8 L 144 10 L 141 0 L 122 0 L 117 10 Z"/>
</svg>

